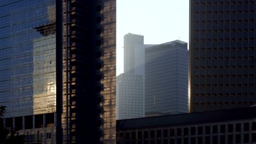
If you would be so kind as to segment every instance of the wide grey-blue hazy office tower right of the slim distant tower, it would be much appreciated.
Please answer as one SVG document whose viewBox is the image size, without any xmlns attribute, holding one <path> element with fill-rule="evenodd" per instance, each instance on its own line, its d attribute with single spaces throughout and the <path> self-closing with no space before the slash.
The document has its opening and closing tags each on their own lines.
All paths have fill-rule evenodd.
<svg viewBox="0 0 256 144">
<path fill-rule="evenodd" d="M 146 116 L 188 112 L 188 47 L 181 40 L 145 49 Z"/>
</svg>

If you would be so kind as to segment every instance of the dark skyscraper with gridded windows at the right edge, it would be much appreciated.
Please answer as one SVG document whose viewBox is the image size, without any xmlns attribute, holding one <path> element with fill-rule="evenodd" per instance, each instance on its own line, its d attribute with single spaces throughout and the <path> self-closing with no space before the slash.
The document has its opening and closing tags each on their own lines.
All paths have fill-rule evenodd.
<svg viewBox="0 0 256 144">
<path fill-rule="evenodd" d="M 190 1 L 190 112 L 256 103 L 256 2 Z"/>
</svg>

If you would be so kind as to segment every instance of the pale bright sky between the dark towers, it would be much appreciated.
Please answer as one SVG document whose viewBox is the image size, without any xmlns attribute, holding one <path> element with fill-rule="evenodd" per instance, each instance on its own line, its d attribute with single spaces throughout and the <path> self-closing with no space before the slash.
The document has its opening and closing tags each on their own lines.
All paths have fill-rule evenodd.
<svg viewBox="0 0 256 144">
<path fill-rule="evenodd" d="M 189 0 L 117 0 L 117 75 L 124 72 L 124 35 L 144 35 L 144 44 L 189 42 Z"/>
</svg>

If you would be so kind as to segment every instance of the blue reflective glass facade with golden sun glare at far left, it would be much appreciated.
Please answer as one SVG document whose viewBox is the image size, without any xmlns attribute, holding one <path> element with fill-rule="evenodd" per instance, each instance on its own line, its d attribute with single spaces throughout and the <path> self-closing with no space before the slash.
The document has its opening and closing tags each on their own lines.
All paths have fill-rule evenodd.
<svg viewBox="0 0 256 144">
<path fill-rule="evenodd" d="M 1 1 L 0 7 L 5 117 L 55 112 L 55 1 Z"/>
</svg>

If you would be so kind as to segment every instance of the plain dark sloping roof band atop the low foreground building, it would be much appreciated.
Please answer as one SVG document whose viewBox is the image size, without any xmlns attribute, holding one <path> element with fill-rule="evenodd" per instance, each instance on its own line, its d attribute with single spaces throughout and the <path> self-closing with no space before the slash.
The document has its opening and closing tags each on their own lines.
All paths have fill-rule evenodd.
<svg viewBox="0 0 256 144">
<path fill-rule="evenodd" d="M 256 106 L 253 106 L 243 107 L 239 109 L 227 109 L 217 111 L 183 113 L 178 115 L 123 119 L 117 121 L 117 130 L 150 127 L 171 127 L 177 125 L 235 121 L 239 119 L 252 119 L 256 118 L 255 111 Z"/>
</svg>

